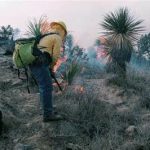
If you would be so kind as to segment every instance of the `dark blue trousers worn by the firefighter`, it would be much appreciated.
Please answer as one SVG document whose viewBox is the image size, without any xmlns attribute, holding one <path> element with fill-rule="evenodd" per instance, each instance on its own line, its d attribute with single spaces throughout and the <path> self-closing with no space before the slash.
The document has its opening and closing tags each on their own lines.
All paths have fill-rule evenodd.
<svg viewBox="0 0 150 150">
<path fill-rule="evenodd" d="M 40 100 L 43 108 L 43 117 L 47 117 L 52 114 L 52 78 L 49 71 L 49 65 L 30 65 L 30 70 L 36 79 L 39 92 Z"/>
</svg>

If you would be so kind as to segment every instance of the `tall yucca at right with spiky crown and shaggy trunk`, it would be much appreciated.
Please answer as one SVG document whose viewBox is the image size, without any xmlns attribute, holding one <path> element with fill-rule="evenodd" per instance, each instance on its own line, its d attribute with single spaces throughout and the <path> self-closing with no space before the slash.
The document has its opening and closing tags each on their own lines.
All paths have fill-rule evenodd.
<svg viewBox="0 0 150 150">
<path fill-rule="evenodd" d="M 133 47 L 140 31 L 142 20 L 129 15 L 127 8 L 120 8 L 116 12 L 106 14 L 101 26 L 109 41 L 107 44 L 112 63 L 117 64 L 118 72 L 125 76 L 126 62 L 130 62 Z"/>
</svg>

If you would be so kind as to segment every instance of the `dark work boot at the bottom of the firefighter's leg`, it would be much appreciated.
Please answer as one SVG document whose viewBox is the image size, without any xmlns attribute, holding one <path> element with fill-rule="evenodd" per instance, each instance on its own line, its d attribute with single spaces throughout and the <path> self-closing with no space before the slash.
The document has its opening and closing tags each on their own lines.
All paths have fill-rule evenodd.
<svg viewBox="0 0 150 150">
<path fill-rule="evenodd" d="M 43 122 L 50 122 L 50 121 L 59 121 L 59 120 L 63 120 L 64 118 L 61 115 L 58 114 L 51 114 L 47 117 L 43 118 Z"/>
</svg>

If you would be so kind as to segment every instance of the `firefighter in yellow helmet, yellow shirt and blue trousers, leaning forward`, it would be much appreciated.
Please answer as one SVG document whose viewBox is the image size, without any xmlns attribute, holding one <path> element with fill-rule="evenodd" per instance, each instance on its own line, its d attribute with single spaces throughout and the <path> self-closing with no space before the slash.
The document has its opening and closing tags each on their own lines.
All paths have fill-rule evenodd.
<svg viewBox="0 0 150 150">
<path fill-rule="evenodd" d="M 35 77 L 43 110 L 43 122 L 62 120 L 63 117 L 54 113 L 52 101 L 52 78 L 53 67 L 60 57 L 60 49 L 67 35 L 67 27 L 64 22 L 52 22 L 50 24 L 50 35 L 43 37 L 39 42 L 39 47 L 44 47 L 42 51 L 46 53 L 45 63 L 33 63 L 30 70 Z M 50 71 L 51 70 L 51 71 Z"/>
</svg>

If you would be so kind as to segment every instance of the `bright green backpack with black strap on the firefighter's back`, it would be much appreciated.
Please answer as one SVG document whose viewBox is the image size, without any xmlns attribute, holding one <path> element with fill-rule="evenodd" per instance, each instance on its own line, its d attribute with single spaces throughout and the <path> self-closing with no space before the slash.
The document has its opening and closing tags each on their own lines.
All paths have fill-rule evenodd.
<svg viewBox="0 0 150 150">
<path fill-rule="evenodd" d="M 33 61 L 38 57 L 38 55 L 42 53 L 40 49 L 45 48 L 37 48 L 37 44 L 43 37 L 51 34 L 57 33 L 47 33 L 35 38 L 23 38 L 16 40 L 15 50 L 13 52 L 13 63 L 15 64 L 15 66 L 20 69 L 32 64 Z M 34 50 L 37 51 L 36 55 L 34 54 Z"/>
</svg>

